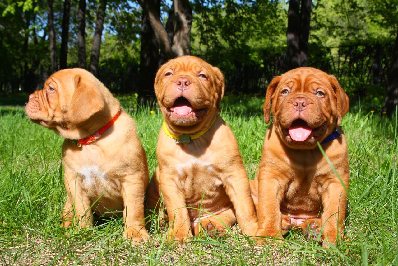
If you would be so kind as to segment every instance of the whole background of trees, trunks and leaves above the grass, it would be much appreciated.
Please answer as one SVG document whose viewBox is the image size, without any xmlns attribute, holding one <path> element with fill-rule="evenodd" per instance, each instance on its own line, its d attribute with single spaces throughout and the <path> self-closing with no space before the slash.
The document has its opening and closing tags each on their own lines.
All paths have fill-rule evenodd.
<svg viewBox="0 0 398 266">
<path fill-rule="evenodd" d="M 222 69 L 229 93 L 264 95 L 273 76 L 312 66 L 391 113 L 398 0 L 0 0 L 0 54 L 6 92 L 82 67 L 153 100 L 158 67 L 192 54 Z"/>
</svg>

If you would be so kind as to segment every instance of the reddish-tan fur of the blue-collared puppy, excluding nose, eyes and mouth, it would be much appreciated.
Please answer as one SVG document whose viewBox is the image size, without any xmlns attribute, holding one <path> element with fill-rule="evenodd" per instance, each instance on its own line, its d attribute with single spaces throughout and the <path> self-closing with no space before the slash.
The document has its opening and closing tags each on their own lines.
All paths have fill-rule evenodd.
<svg viewBox="0 0 398 266">
<path fill-rule="evenodd" d="M 281 94 L 285 89 L 290 90 L 288 95 Z M 325 96 L 316 96 L 318 90 Z M 293 100 L 298 97 L 308 101 L 301 112 L 293 106 Z M 336 242 L 344 229 L 347 193 L 316 142 L 322 142 L 334 132 L 348 108 L 348 97 L 337 79 L 318 69 L 294 69 L 270 83 L 264 102 L 264 120 L 269 121 L 270 110 L 274 118 L 265 135 L 255 180 L 250 184 L 259 219 L 256 235 L 281 238 L 281 229 L 289 225 L 291 218 L 298 218 L 308 219 L 307 222 L 315 223 L 318 229 L 323 227 L 322 238 L 328 243 Z M 297 118 L 312 128 L 322 126 L 322 134 L 303 143 L 289 139 L 283 128 L 288 128 Z M 345 135 L 322 144 L 322 148 L 348 189 Z M 306 231 L 308 223 L 299 227 Z M 258 238 L 258 242 L 264 240 Z"/>
</svg>

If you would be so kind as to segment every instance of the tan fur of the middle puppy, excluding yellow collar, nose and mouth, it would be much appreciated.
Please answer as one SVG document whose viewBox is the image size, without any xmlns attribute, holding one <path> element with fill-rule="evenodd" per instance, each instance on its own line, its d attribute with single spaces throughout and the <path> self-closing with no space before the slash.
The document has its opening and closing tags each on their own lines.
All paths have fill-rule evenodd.
<svg viewBox="0 0 398 266">
<path fill-rule="evenodd" d="M 168 72 L 172 75 L 166 76 Z M 199 77 L 201 73 L 207 79 Z M 179 77 L 192 82 L 183 92 L 176 85 Z M 257 217 L 238 143 L 217 114 L 224 93 L 224 77 L 220 70 L 197 57 L 178 57 L 159 69 L 155 92 L 167 127 L 175 135 L 204 130 L 216 117 L 213 126 L 193 143 L 176 144 L 162 129 L 159 132 L 156 151 L 159 166 L 148 188 L 147 204 L 155 208 L 161 190 L 167 207 L 166 219 L 170 221 L 167 240 L 185 240 L 203 229 L 214 230 L 214 234 L 208 232 L 213 236 L 215 232 L 224 231 L 223 223 L 233 225 L 236 221 L 244 234 L 254 235 Z M 169 108 L 181 95 L 195 109 L 207 108 L 206 113 L 189 119 L 172 117 Z M 195 219 L 199 222 L 198 217 L 201 227 L 195 223 Z"/>
</svg>

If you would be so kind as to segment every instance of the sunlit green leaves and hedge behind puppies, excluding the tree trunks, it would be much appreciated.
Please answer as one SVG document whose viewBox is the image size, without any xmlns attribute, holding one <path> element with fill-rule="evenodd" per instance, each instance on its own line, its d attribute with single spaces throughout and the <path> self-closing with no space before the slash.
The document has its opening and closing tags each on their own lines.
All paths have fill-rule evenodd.
<svg viewBox="0 0 398 266">
<path fill-rule="evenodd" d="M 59 50 L 63 0 L 54 1 Z M 398 0 L 314 0 L 310 66 L 336 75 L 353 100 L 380 108 L 398 25 Z M 72 1 L 68 66 L 76 67 L 77 6 Z M 171 2 L 162 1 L 166 24 Z M 263 95 L 275 75 L 287 71 L 286 1 L 191 0 L 192 54 L 220 67 L 226 91 Z M 0 90 L 30 92 L 51 74 L 44 0 L 0 1 Z M 108 1 L 99 78 L 116 93 L 139 86 L 142 10 L 137 2 Z M 87 0 L 86 53 L 90 51 L 96 1 Z M 377 52 L 376 52 L 377 51 Z M 40 86 L 38 86 L 40 87 Z"/>
</svg>

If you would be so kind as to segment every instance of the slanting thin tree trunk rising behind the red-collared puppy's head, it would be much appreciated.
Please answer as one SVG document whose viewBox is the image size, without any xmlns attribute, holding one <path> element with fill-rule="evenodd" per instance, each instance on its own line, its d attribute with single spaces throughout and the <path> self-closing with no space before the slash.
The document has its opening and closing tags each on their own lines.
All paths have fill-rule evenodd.
<svg viewBox="0 0 398 266">
<path fill-rule="evenodd" d="M 100 0 L 98 3 L 96 31 L 94 33 L 93 48 L 91 50 L 89 67 L 89 70 L 94 74 L 94 76 L 98 75 L 98 63 L 100 62 L 101 36 L 103 30 L 103 21 L 105 19 L 106 3 L 107 0 Z"/>
</svg>

